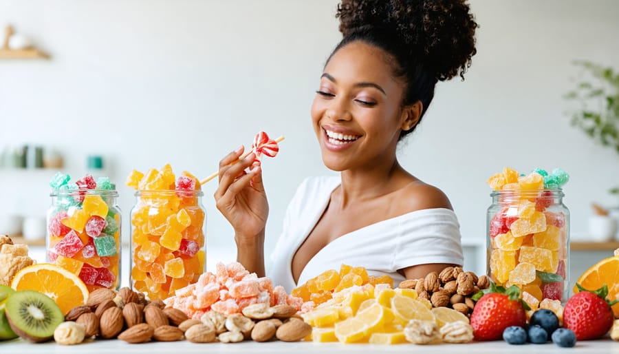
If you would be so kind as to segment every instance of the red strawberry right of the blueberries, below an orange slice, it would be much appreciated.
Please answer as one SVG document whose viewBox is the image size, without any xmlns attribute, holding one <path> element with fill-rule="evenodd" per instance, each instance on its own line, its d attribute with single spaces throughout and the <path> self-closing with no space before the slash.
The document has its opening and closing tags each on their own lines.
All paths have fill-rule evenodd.
<svg viewBox="0 0 619 354">
<path fill-rule="evenodd" d="M 563 327 L 571 329 L 577 340 L 594 340 L 608 333 L 613 325 L 611 306 L 618 300 L 606 299 L 608 287 L 604 284 L 596 291 L 589 291 L 576 284 L 579 293 L 574 294 L 563 307 Z"/>
</svg>

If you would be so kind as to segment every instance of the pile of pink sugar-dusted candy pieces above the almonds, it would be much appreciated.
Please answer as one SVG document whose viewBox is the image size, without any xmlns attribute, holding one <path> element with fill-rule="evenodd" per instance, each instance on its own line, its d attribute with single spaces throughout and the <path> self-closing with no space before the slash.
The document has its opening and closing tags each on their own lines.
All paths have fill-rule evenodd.
<svg viewBox="0 0 619 354">
<path fill-rule="evenodd" d="M 177 289 L 164 300 L 167 307 L 184 311 L 197 320 L 208 311 L 224 315 L 240 313 L 251 304 L 291 305 L 301 310 L 303 300 L 289 295 L 281 286 L 273 287 L 270 278 L 258 278 L 238 262 L 217 263 L 215 273 L 206 272 L 197 282 Z"/>
</svg>

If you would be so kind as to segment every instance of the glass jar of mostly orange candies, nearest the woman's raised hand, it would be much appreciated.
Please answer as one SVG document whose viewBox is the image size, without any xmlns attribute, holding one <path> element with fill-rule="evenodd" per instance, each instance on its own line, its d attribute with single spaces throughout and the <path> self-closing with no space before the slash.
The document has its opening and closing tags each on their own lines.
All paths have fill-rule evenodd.
<svg viewBox="0 0 619 354">
<path fill-rule="evenodd" d="M 131 286 L 164 300 L 197 282 L 206 261 L 200 190 L 135 192 L 131 209 Z"/>
</svg>

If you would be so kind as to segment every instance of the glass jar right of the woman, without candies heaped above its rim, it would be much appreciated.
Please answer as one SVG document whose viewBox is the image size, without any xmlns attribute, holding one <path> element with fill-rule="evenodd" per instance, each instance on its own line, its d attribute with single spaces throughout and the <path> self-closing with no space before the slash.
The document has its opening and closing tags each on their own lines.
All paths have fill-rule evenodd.
<svg viewBox="0 0 619 354">
<path fill-rule="evenodd" d="M 569 295 L 569 210 L 561 189 L 492 191 L 487 214 L 488 276 L 517 285 L 535 306 Z"/>
</svg>

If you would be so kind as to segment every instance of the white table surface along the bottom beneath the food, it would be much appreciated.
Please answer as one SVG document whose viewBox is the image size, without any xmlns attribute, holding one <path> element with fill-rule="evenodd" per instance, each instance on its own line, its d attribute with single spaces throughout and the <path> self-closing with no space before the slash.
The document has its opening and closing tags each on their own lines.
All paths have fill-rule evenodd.
<svg viewBox="0 0 619 354">
<path fill-rule="evenodd" d="M 574 348 L 560 348 L 552 342 L 546 344 L 509 345 L 506 342 L 471 342 L 468 344 L 435 344 L 417 346 L 415 344 L 340 344 L 313 342 L 266 342 L 257 343 L 245 341 L 241 343 L 224 344 L 208 343 L 194 344 L 180 342 L 149 342 L 143 344 L 128 344 L 121 340 L 95 340 L 74 346 L 61 346 L 54 342 L 34 344 L 21 339 L 0 342 L 0 353 L 613 353 L 619 354 L 619 342 L 612 340 L 593 340 L 577 342 Z"/>
</svg>

